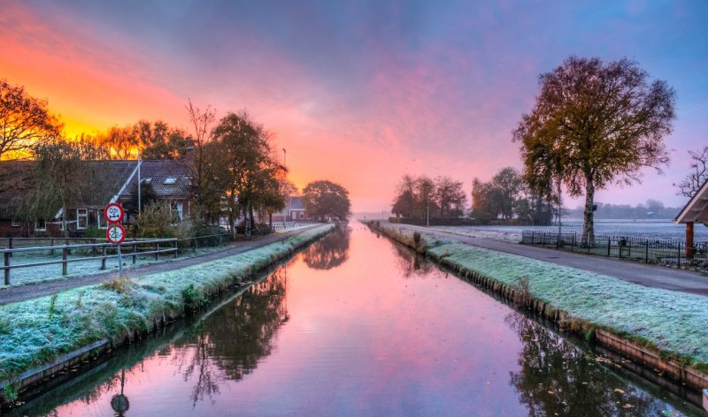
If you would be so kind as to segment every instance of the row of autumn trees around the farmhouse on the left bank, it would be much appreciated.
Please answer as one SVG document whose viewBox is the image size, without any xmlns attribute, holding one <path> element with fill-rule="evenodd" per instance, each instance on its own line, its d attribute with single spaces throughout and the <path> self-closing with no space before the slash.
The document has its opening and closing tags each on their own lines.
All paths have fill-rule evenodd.
<svg viewBox="0 0 708 417">
<path fill-rule="evenodd" d="M 226 214 L 235 231 L 240 217 L 252 225 L 255 214 L 268 218 L 285 207 L 289 195 L 298 193 L 279 162 L 273 134 L 245 110 L 220 119 L 211 106 L 203 110 L 189 101 L 186 110 L 190 133 L 163 121 L 141 120 L 70 140 L 46 101 L 0 80 L 0 159 L 35 162 L 22 178 L 14 175 L 17 170 L 0 172 L 0 197 L 7 201 L 25 196 L 24 213 L 18 218 L 50 218 L 53 213 L 47 211 L 52 207 L 66 208 L 74 201 L 101 203 L 91 201 L 102 189 L 93 178 L 101 176 L 92 175 L 89 171 L 96 165 L 86 161 L 135 159 L 138 153 L 142 159 L 181 159 L 189 150 L 192 218 L 197 222 L 213 223 Z M 150 201 L 150 185 L 142 187 L 145 201 Z M 348 192 L 342 186 L 316 181 L 305 190 L 306 208 L 314 216 L 349 215 Z"/>
</svg>

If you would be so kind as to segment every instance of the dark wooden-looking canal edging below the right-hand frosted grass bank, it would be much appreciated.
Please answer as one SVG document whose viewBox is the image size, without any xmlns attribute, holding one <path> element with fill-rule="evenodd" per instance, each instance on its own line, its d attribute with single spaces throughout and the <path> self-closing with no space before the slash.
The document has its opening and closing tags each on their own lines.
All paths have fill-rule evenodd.
<svg viewBox="0 0 708 417">
<path fill-rule="evenodd" d="M 671 355 L 663 353 L 658 349 L 639 345 L 626 337 L 621 337 L 611 329 L 598 329 L 581 317 L 573 317 L 573 315 L 569 315 L 565 311 L 551 306 L 550 303 L 533 298 L 527 292 L 524 292 L 522 288 L 512 287 L 511 285 L 497 281 L 493 277 L 483 276 L 473 270 L 466 269 L 456 262 L 450 262 L 450 260 L 446 258 L 438 259 L 435 256 L 430 256 L 430 254 L 427 254 L 426 250 L 412 246 L 410 244 L 411 242 L 401 239 L 401 236 L 397 235 L 395 232 L 389 231 L 385 227 L 381 227 L 377 222 L 372 222 L 368 225 L 373 231 L 381 232 L 389 237 L 389 239 L 409 246 L 419 254 L 425 254 L 428 259 L 445 269 L 449 269 L 467 282 L 479 285 L 489 292 L 496 293 L 496 295 L 504 300 L 510 301 L 517 306 L 527 307 L 535 312 L 535 314 L 545 317 L 551 322 L 556 322 L 563 330 L 572 331 L 581 337 L 587 337 L 589 332 L 592 332 L 591 334 L 594 336 L 597 343 L 604 345 L 613 352 L 620 353 L 620 355 L 624 357 L 642 363 L 643 366 L 647 368 L 663 373 L 677 383 L 689 386 L 699 392 L 703 391 L 704 408 L 708 411 L 708 390 L 705 390 L 705 388 L 708 387 L 708 373 L 696 368 L 691 368 L 689 365 L 683 364 L 679 360 L 669 359 Z"/>
</svg>

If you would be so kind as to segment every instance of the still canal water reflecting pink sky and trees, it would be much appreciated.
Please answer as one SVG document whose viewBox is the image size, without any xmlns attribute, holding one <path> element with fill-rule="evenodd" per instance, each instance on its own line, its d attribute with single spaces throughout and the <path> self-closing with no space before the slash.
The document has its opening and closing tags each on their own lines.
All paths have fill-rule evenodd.
<svg viewBox="0 0 708 417">
<path fill-rule="evenodd" d="M 701 415 L 359 223 L 210 308 L 11 415 Z"/>
</svg>

